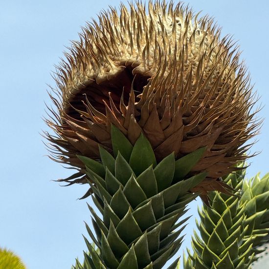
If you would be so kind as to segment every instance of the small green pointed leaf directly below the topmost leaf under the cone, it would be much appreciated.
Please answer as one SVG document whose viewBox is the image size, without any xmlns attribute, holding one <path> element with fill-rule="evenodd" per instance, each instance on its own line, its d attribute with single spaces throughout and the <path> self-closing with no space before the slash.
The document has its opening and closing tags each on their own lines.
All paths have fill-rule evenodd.
<svg viewBox="0 0 269 269">
<path fill-rule="evenodd" d="M 115 162 L 115 177 L 121 182 L 123 186 L 127 183 L 130 177 L 134 174 L 131 166 L 128 164 L 126 159 L 119 152 Z"/>
</svg>

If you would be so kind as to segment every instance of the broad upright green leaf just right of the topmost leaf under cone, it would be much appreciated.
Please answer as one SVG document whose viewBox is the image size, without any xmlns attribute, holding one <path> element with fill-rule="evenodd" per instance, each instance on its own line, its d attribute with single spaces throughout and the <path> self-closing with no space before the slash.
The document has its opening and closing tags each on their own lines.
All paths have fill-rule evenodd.
<svg viewBox="0 0 269 269">
<path fill-rule="evenodd" d="M 151 165 L 155 167 L 157 164 L 151 144 L 142 133 L 134 144 L 129 163 L 136 176 L 139 176 Z"/>
</svg>

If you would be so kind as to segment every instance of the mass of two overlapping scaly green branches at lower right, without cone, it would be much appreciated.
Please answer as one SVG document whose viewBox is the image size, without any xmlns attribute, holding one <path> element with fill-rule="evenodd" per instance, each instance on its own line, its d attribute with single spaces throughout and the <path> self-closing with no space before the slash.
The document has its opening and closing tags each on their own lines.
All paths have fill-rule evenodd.
<svg viewBox="0 0 269 269">
<path fill-rule="evenodd" d="M 194 253 L 187 249 L 184 269 L 248 269 L 263 251 L 258 247 L 268 242 L 269 177 L 257 175 L 249 182 L 244 177 L 241 171 L 224 178 L 235 189 L 233 196 L 209 195 L 211 207 L 203 206 L 197 221 L 201 237 L 194 232 Z"/>
</svg>

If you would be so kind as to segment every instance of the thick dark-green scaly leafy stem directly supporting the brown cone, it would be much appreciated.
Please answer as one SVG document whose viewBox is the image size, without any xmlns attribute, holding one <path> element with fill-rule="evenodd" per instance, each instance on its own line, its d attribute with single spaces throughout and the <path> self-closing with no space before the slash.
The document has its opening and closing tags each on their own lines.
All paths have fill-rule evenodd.
<svg viewBox="0 0 269 269">
<path fill-rule="evenodd" d="M 181 245 L 180 234 L 188 218 L 178 220 L 197 197 L 189 190 L 206 177 L 206 173 L 192 177 L 188 173 L 205 149 L 185 158 L 182 171 L 182 160 L 176 161 L 173 153 L 157 163 L 143 134 L 134 147 L 125 139 L 112 126 L 114 156 L 100 148 L 102 163 L 80 157 L 87 168 L 93 202 L 103 217 L 89 205 L 96 237 L 88 225 L 87 230 L 99 253 L 86 239 L 90 255 L 86 254 L 85 263 L 91 269 L 160 269 Z M 178 260 L 169 269 L 177 264 Z M 77 268 L 88 269 L 80 264 Z"/>
</svg>

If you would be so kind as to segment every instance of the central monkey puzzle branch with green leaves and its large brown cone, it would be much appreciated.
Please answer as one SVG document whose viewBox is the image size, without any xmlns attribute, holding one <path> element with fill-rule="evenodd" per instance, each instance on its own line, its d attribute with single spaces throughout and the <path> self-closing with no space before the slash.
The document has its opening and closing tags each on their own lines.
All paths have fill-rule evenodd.
<svg viewBox="0 0 269 269">
<path fill-rule="evenodd" d="M 88 183 L 100 253 L 90 268 L 162 268 L 181 244 L 185 206 L 242 170 L 260 122 L 231 38 L 172 2 L 122 4 L 88 23 L 55 76 L 51 157 Z M 180 227 L 180 228 L 179 228 Z M 179 229 L 178 229 L 179 228 Z M 171 268 L 175 268 L 175 262 Z"/>
</svg>

